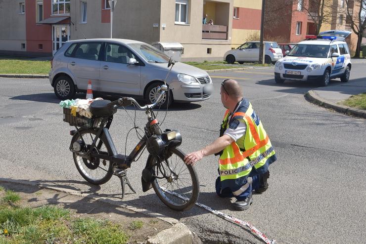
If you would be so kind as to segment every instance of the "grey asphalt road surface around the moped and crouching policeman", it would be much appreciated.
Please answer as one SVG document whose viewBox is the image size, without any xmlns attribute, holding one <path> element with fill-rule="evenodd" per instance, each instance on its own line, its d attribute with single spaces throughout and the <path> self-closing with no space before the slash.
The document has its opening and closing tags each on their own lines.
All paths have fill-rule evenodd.
<svg viewBox="0 0 366 244">
<path fill-rule="evenodd" d="M 273 68 L 211 73 L 211 77 L 211 99 L 175 105 L 162 127 L 181 131 L 184 152 L 212 142 L 225 112 L 219 94 L 221 81 L 234 78 L 262 120 L 278 161 L 270 168 L 269 190 L 254 195 L 249 210 L 233 211 L 230 199 L 215 194 L 218 158 L 206 157 L 196 164 L 201 185 L 198 201 L 252 223 L 278 243 L 364 243 L 365 120 L 307 102 L 304 94 L 317 85 L 292 81 L 278 85 Z M 365 64 L 354 64 L 350 83 L 365 77 Z M 339 79 L 331 81 L 330 87 L 339 83 Z M 116 177 L 95 187 L 79 175 L 68 150 L 72 127 L 62 121 L 58 102 L 46 79 L 0 78 L 0 177 L 39 181 L 120 201 Z M 128 112 L 133 115 L 133 110 Z M 160 121 L 163 116 L 160 112 Z M 137 112 L 137 123 L 143 127 L 145 122 L 145 114 Z M 120 110 L 110 129 L 120 153 L 132 126 Z M 127 151 L 136 143 L 132 133 Z M 249 231 L 197 206 L 175 212 L 161 203 L 153 190 L 142 193 L 140 176 L 146 158 L 144 153 L 129 170 L 137 194 L 127 194 L 125 203 L 179 219 L 204 243 L 262 243 Z"/>
</svg>

